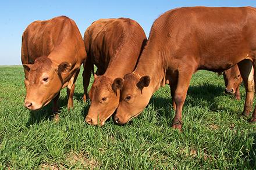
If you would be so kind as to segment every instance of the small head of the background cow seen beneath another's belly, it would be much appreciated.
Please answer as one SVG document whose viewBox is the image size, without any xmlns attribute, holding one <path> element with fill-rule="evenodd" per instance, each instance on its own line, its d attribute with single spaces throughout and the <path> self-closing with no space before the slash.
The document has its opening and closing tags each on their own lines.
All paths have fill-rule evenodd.
<svg viewBox="0 0 256 170">
<path fill-rule="evenodd" d="M 237 65 L 229 68 L 228 70 L 225 70 L 223 72 L 223 78 L 226 86 L 225 92 L 228 94 L 234 94 L 237 87 L 243 81 L 243 79 L 241 78 L 239 67 Z"/>
</svg>

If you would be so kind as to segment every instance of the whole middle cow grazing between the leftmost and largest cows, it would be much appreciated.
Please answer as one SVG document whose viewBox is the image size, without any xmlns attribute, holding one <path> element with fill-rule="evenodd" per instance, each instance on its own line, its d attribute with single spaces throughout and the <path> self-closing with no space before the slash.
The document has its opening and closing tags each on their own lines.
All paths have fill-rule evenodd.
<svg viewBox="0 0 256 170">
<path fill-rule="evenodd" d="M 134 70 L 146 40 L 143 28 L 125 18 L 97 20 L 84 32 L 88 56 L 83 73 L 84 100 L 93 64 L 98 67 L 89 92 L 88 124 L 102 126 L 114 113 L 119 104 L 120 82 Z"/>
</svg>

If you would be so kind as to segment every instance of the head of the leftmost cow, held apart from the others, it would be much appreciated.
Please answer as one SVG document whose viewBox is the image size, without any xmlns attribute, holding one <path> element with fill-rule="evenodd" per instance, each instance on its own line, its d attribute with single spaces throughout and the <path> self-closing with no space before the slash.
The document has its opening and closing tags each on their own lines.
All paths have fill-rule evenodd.
<svg viewBox="0 0 256 170">
<path fill-rule="evenodd" d="M 23 64 L 25 71 L 25 106 L 38 110 L 47 105 L 62 88 L 62 74 L 71 69 L 71 64 L 54 64 L 45 56 L 38 57 L 34 64 Z"/>
</svg>

